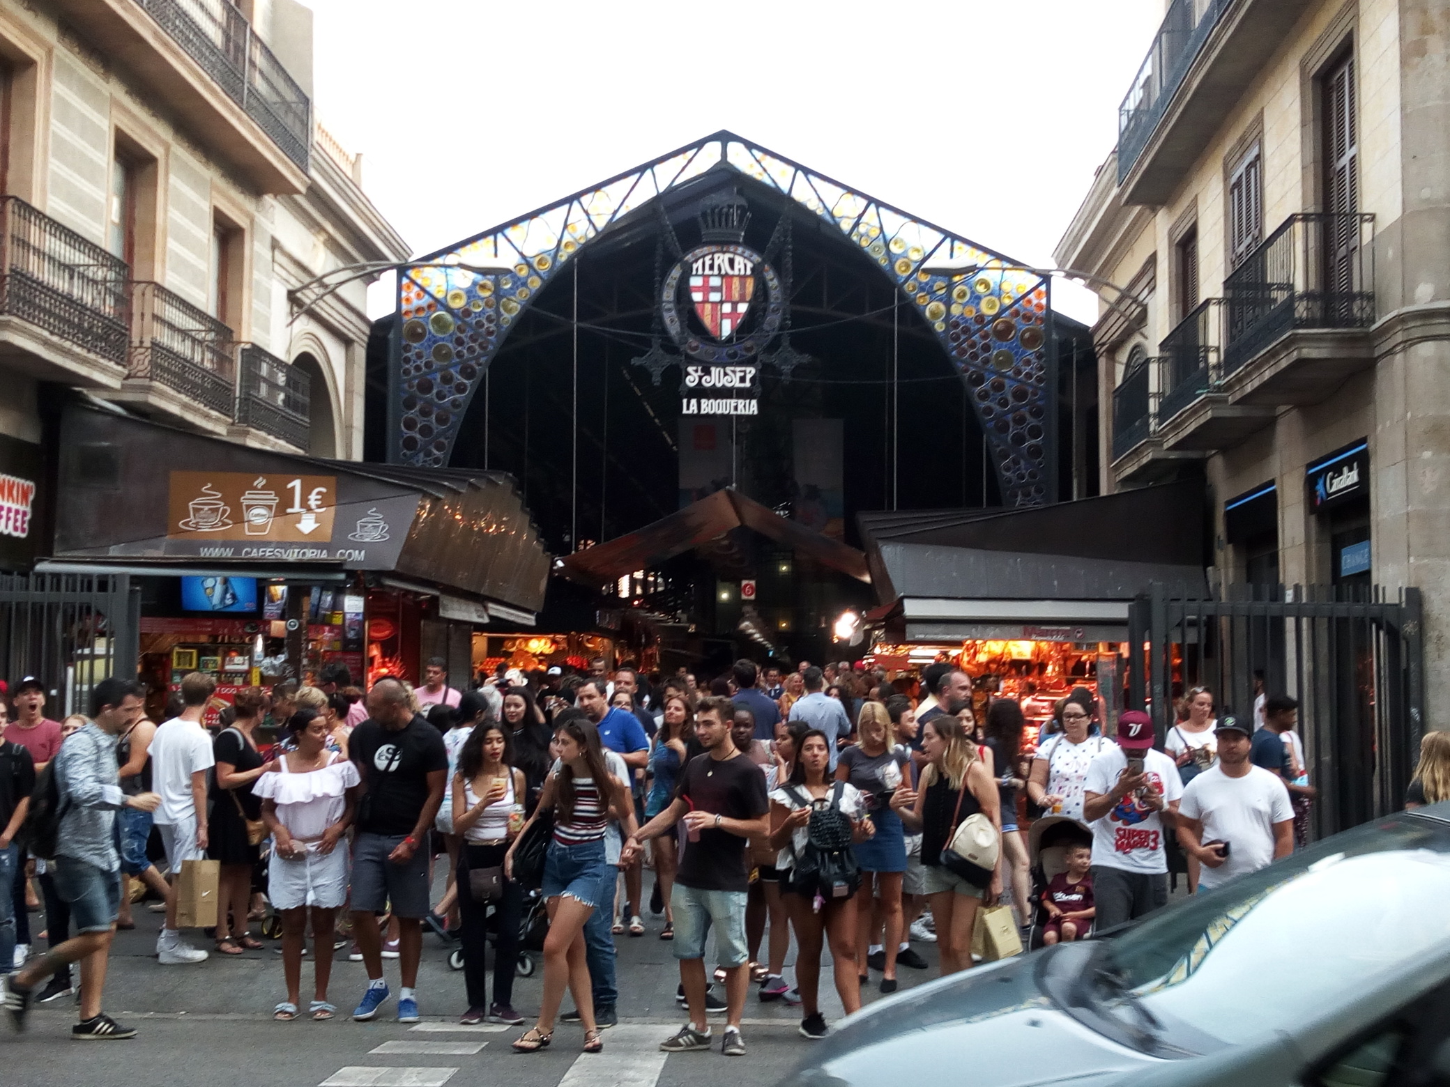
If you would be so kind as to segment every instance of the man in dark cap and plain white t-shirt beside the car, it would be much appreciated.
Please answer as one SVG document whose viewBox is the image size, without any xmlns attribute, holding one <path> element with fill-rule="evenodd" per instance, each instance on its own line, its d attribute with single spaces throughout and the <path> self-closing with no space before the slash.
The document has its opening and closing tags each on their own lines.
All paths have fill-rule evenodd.
<svg viewBox="0 0 1450 1087">
<path fill-rule="evenodd" d="M 1218 764 L 1183 788 L 1177 836 L 1183 851 L 1204 865 L 1202 891 L 1293 852 L 1289 790 L 1250 761 L 1251 730 L 1250 722 L 1222 715 L 1215 729 Z"/>
</svg>

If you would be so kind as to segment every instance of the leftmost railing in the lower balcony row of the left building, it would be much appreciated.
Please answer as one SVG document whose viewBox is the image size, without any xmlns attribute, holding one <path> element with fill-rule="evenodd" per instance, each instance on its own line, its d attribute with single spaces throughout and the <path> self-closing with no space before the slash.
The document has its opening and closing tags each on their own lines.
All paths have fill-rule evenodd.
<svg viewBox="0 0 1450 1087">
<path fill-rule="evenodd" d="M 126 364 L 126 262 L 25 200 L 0 200 L 0 313 Z"/>
</svg>

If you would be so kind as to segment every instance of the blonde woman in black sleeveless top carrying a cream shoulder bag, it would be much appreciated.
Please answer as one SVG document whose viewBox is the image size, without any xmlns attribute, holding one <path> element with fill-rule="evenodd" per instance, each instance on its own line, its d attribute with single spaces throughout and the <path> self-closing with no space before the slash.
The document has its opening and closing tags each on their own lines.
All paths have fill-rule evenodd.
<svg viewBox="0 0 1450 1087">
<path fill-rule="evenodd" d="M 960 719 L 950 715 L 932 717 L 921 728 L 921 749 L 927 767 L 921 790 L 898 788 L 892 810 L 906 829 L 921 833 L 921 862 L 931 915 L 937 919 L 937 952 L 941 974 L 956 974 L 972 967 L 972 929 L 983 899 L 1002 894 L 1002 851 L 987 887 L 976 887 L 941 864 L 941 851 L 963 819 L 980 812 L 1002 832 L 1002 813 L 996 781 L 977 758 Z"/>
</svg>

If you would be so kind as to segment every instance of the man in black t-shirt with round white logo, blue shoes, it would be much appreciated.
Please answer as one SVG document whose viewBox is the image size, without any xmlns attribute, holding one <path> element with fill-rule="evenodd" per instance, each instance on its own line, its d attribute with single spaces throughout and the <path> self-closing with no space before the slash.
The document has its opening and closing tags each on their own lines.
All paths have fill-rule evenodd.
<svg viewBox="0 0 1450 1087">
<path fill-rule="evenodd" d="M 407 688 L 397 680 L 373 684 L 367 709 L 367 720 L 348 741 L 348 754 L 362 777 L 352 842 L 352 933 L 368 977 L 352 1017 L 373 1019 L 387 1000 L 383 933 L 376 915 L 392 903 L 403 980 L 397 1022 L 416 1023 L 422 919 L 431 906 L 428 830 L 444 799 L 448 752 L 438 729 L 413 713 Z"/>
</svg>

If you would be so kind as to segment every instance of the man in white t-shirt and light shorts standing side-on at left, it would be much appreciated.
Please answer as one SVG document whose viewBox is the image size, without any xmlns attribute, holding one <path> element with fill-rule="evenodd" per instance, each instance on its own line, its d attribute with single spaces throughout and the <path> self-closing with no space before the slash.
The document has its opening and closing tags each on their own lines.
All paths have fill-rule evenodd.
<svg viewBox="0 0 1450 1087">
<path fill-rule="evenodd" d="M 161 794 L 154 822 L 167 851 L 167 871 L 181 874 L 183 861 L 206 857 L 206 775 L 216 765 L 212 738 L 202 728 L 216 680 L 203 672 L 181 677 L 181 716 L 157 729 L 151 739 L 151 787 Z M 177 932 L 177 896 L 167 899 L 167 923 L 157 935 L 162 965 L 200 962 L 206 952 Z"/>
</svg>

